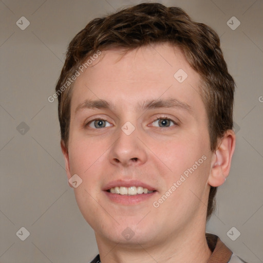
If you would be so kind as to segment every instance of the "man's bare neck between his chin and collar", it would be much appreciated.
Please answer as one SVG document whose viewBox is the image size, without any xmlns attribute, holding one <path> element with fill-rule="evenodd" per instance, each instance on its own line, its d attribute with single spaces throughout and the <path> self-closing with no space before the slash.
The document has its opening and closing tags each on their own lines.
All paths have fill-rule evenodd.
<svg viewBox="0 0 263 263">
<path fill-rule="evenodd" d="M 103 239 L 96 233 L 101 263 L 159 262 L 185 263 L 209 260 L 210 251 L 205 238 L 205 226 L 171 233 L 170 236 L 149 243 L 122 244 Z"/>
</svg>

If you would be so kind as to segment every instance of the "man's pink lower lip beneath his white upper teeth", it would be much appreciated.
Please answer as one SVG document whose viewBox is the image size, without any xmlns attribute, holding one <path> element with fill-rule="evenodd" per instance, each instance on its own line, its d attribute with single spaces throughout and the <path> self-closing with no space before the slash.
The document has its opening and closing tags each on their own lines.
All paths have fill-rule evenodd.
<svg viewBox="0 0 263 263">
<path fill-rule="evenodd" d="M 150 199 L 157 192 L 153 192 L 150 194 L 137 194 L 137 195 L 119 195 L 119 194 L 112 194 L 107 191 L 104 191 L 104 193 L 109 198 L 109 200 L 111 200 L 112 202 L 119 203 L 119 204 L 125 204 L 125 205 L 132 205 L 132 204 L 138 204 L 140 202 Z"/>
</svg>

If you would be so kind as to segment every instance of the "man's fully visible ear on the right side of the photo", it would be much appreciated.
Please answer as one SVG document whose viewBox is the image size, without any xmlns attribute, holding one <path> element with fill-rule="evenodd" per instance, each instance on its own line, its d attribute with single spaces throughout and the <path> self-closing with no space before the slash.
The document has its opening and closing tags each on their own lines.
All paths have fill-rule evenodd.
<svg viewBox="0 0 263 263">
<path fill-rule="evenodd" d="M 226 181 L 235 150 L 235 143 L 235 133 L 233 130 L 227 130 L 212 156 L 210 175 L 208 178 L 208 183 L 211 186 L 216 187 Z"/>
</svg>

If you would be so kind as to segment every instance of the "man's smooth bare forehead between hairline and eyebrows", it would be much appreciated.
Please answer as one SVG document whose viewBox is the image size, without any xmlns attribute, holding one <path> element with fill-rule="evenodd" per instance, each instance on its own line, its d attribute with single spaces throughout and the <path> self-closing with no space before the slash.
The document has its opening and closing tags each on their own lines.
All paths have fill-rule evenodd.
<svg viewBox="0 0 263 263">
<path fill-rule="evenodd" d="M 202 103 L 199 84 L 199 74 L 178 47 L 163 43 L 125 53 L 110 49 L 102 51 L 77 78 L 71 114 L 86 99 L 110 100 L 112 105 L 126 109 L 145 99 L 174 98 L 185 103 Z"/>
</svg>

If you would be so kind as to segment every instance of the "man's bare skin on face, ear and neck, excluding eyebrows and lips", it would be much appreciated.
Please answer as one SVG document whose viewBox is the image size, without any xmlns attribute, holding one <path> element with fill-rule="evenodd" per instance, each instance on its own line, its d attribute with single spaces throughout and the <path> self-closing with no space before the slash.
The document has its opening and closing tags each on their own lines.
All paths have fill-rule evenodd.
<svg viewBox="0 0 263 263">
<path fill-rule="evenodd" d="M 101 262 L 206 262 L 211 256 L 205 240 L 210 185 L 219 186 L 228 176 L 235 135 L 229 130 L 216 151 L 210 150 L 200 76 L 180 49 L 165 43 L 120 54 L 103 51 L 77 78 L 68 148 L 61 142 L 68 179 L 74 174 L 82 179 L 74 194 L 95 231 Z M 174 78 L 178 69 L 188 75 L 182 83 Z M 192 110 L 136 107 L 146 99 L 168 98 Z M 108 100 L 114 107 L 76 112 L 87 99 Z M 172 120 L 168 128 L 158 124 L 165 118 Z M 93 119 L 106 120 L 106 127 L 94 126 Z M 135 127 L 130 135 L 121 129 L 127 121 Z M 202 156 L 206 160 L 155 208 L 153 202 Z M 102 191 L 117 179 L 138 179 L 157 192 L 136 205 L 117 204 Z M 127 227 L 134 232 L 129 240 L 122 236 Z"/>
</svg>

